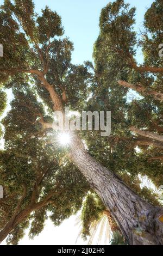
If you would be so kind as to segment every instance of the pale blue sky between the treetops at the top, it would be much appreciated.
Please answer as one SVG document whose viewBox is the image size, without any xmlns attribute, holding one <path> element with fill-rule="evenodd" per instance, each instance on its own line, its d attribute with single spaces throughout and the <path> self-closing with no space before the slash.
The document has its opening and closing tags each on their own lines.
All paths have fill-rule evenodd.
<svg viewBox="0 0 163 256">
<path fill-rule="evenodd" d="M 101 9 L 108 4 L 108 0 L 35 0 L 37 13 L 48 5 L 52 10 L 62 17 L 62 25 L 65 28 L 65 35 L 74 44 L 72 62 L 81 64 L 85 60 L 92 60 L 92 49 L 97 39 L 99 28 L 99 15 Z M 126 3 L 137 8 L 135 29 L 139 32 L 143 22 L 143 15 L 146 8 L 153 0 L 130 0 Z M 139 58 L 139 56 L 137 56 Z"/>
</svg>

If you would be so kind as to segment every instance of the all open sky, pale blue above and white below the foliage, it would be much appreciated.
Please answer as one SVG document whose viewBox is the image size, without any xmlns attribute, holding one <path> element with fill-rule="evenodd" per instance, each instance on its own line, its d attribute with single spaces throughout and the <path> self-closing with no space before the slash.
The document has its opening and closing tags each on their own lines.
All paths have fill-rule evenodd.
<svg viewBox="0 0 163 256">
<path fill-rule="evenodd" d="M 74 64 L 92 60 L 93 44 L 99 33 L 99 14 L 108 2 L 108 0 L 34 0 L 37 13 L 40 13 L 41 8 L 45 8 L 45 5 L 48 5 L 49 8 L 57 11 L 62 17 L 65 35 L 74 44 L 74 52 L 72 54 L 72 62 Z M 135 29 L 139 32 L 143 22 L 143 15 L 147 7 L 153 3 L 153 0 L 128 0 L 126 2 L 129 2 L 131 6 L 135 6 L 137 9 Z M 3 3 L 3 1 L 0 0 L 0 3 Z M 137 54 L 137 60 L 141 61 L 140 52 Z M 11 92 L 8 91 L 8 102 L 10 99 Z M 29 240 L 26 235 L 20 244 L 75 245 L 79 233 L 79 227 L 75 223 L 76 216 L 65 220 L 60 227 L 54 227 L 51 221 L 47 221 L 45 229 L 39 236 L 35 237 L 34 240 Z M 84 245 L 84 241 L 80 239 L 77 244 Z"/>
</svg>

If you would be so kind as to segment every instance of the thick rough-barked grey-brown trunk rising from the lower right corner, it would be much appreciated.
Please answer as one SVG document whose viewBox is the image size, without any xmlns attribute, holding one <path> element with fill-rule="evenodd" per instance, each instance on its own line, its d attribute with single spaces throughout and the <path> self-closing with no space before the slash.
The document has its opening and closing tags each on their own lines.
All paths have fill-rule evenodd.
<svg viewBox="0 0 163 256">
<path fill-rule="evenodd" d="M 111 212 L 129 245 L 163 245 L 162 208 L 148 204 L 87 154 L 77 136 L 71 142 L 71 158 Z"/>
</svg>

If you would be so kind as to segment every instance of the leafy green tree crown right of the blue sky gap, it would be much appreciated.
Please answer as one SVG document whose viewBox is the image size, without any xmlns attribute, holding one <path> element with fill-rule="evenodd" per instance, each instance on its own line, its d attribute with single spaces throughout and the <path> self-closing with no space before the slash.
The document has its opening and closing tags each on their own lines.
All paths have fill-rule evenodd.
<svg viewBox="0 0 163 256">
<path fill-rule="evenodd" d="M 121 159 L 126 153 L 127 157 L 131 156 L 128 158 L 128 163 L 130 161 L 130 164 L 133 165 L 133 170 L 128 166 L 124 166 L 124 168 L 133 174 L 134 172 L 139 173 L 141 170 L 141 173 L 148 175 L 156 186 L 162 184 L 162 75 L 158 71 L 153 74 L 148 70 L 146 72 L 139 70 L 138 72 L 137 68 L 133 67 L 130 58 L 136 53 L 135 44 L 137 42 L 138 46 L 142 47 L 145 56 L 143 67 L 162 65 L 162 58 L 158 54 L 158 46 L 162 40 L 161 27 L 156 27 L 155 31 L 149 27 L 151 20 L 155 19 L 161 10 L 161 1 L 155 1 L 147 10 L 144 31 L 141 38 L 137 38 L 136 41 L 132 28 L 135 9 L 128 9 L 128 5 L 124 5 L 123 1 L 108 5 L 102 10 L 101 34 L 96 41 L 94 51 L 96 76 L 102 87 L 105 87 L 105 90 L 110 90 L 109 96 L 105 97 L 103 101 L 108 103 L 112 115 L 115 115 L 117 106 L 121 107 L 118 117 L 114 117 L 114 123 L 112 120 L 112 125 L 116 124 L 117 127 L 112 129 L 113 136 L 110 140 L 112 140 L 112 144 L 116 145 L 114 148 L 120 148 Z M 116 15 L 117 17 L 115 17 Z M 152 39 L 147 40 L 147 38 Z M 152 47 L 151 44 L 153 44 Z M 132 58 L 136 63 L 134 57 Z M 137 66 L 137 64 L 135 65 Z M 118 84 L 123 87 L 120 88 Z M 135 96 L 128 102 L 126 98 L 130 92 L 128 88 L 139 93 L 141 98 Z M 102 95 L 99 95 L 100 97 L 102 98 Z M 122 144 L 123 146 L 120 147 Z M 122 150 L 123 147 L 126 150 Z M 141 149 L 137 166 L 134 164 L 135 153 L 131 154 L 135 147 Z M 117 154 L 117 149 L 115 151 L 118 156 L 120 153 Z"/>
</svg>

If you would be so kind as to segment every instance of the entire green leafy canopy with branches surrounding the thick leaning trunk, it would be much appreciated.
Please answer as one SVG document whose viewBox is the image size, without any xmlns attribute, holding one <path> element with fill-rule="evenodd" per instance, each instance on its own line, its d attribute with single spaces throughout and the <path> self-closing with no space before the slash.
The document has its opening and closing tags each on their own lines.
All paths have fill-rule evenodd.
<svg viewBox="0 0 163 256">
<path fill-rule="evenodd" d="M 147 202 L 161 205 L 152 190 L 141 188 L 138 175 L 147 175 L 157 188 L 163 184 L 163 58 L 158 53 L 163 3 L 155 0 L 146 11 L 141 36 L 134 29 L 135 11 L 123 0 L 106 5 L 92 46 L 94 63 L 74 65 L 73 44 L 64 38 L 55 11 L 45 7 L 39 16 L 31 0 L 1 5 L 0 114 L 6 107 L 5 89 L 12 88 L 14 95 L 2 120 L 5 145 L 0 152 L 0 230 L 6 229 L 8 243 L 17 244 L 27 227 L 30 237 L 38 235 L 48 216 L 59 225 L 82 207 L 83 236 L 101 214 L 114 223 L 68 148 L 57 141 L 53 111 L 64 106 L 79 112 L 111 111 L 109 137 L 79 132 L 87 151 Z M 131 97 L 133 90 L 136 96 Z"/>
</svg>

